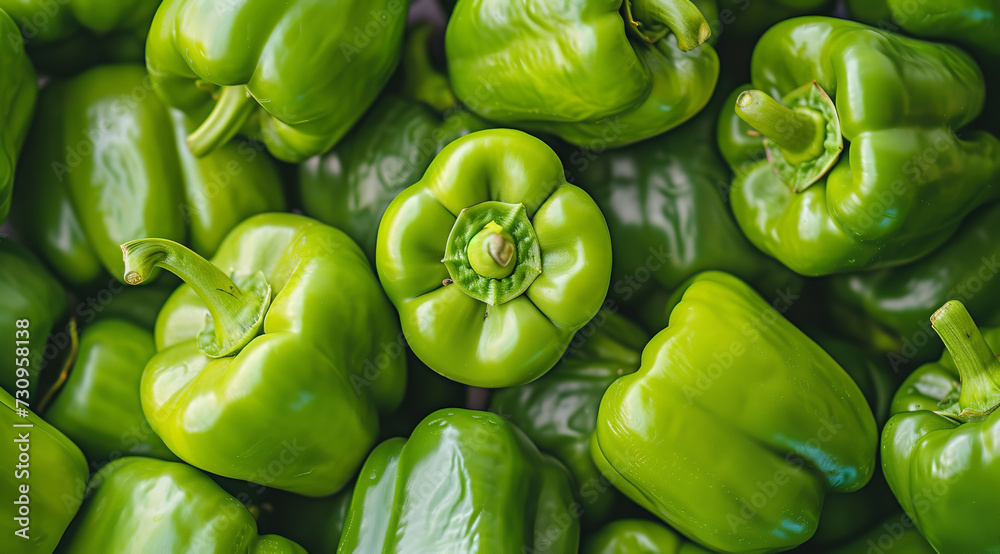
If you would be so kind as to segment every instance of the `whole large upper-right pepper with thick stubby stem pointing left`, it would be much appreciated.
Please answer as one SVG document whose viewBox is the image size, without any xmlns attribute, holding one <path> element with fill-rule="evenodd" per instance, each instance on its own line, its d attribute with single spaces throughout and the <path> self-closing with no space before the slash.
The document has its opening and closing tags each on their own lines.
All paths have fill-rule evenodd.
<svg viewBox="0 0 1000 554">
<path fill-rule="evenodd" d="M 764 34 L 751 71 L 759 90 L 742 92 L 735 109 L 767 138 L 768 156 L 727 156 L 733 212 L 751 242 L 792 270 L 913 261 L 1000 197 L 1000 142 L 954 134 L 984 101 L 983 76 L 961 50 L 801 17 Z M 727 112 L 721 132 L 739 132 Z"/>
</svg>

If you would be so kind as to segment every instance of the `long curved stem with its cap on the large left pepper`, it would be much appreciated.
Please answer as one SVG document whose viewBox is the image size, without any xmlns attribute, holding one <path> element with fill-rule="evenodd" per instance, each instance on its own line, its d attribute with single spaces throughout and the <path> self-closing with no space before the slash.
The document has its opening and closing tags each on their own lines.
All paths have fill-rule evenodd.
<svg viewBox="0 0 1000 554">
<path fill-rule="evenodd" d="M 271 302 L 264 274 L 230 279 L 211 262 L 166 239 L 141 239 L 122 245 L 125 282 L 138 285 L 162 267 L 194 289 L 211 314 L 198 334 L 198 347 L 211 358 L 239 352 L 260 331 Z"/>
</svg>

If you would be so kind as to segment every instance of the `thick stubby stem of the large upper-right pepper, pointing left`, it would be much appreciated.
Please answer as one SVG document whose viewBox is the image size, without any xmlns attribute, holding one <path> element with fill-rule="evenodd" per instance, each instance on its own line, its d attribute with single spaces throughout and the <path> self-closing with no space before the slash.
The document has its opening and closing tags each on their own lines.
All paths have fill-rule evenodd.
<svg viewBox="0 0 1000 554">
<path fill-rule="evenodd" d="M 826 126 L 809 108 L 791 109 L 760 90 L 745 90 L 736 99 L 736 114 L 769 141 L 797 158 L 823 153 Z"/>
</svg>

